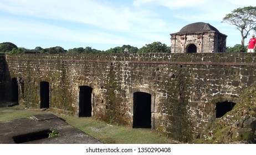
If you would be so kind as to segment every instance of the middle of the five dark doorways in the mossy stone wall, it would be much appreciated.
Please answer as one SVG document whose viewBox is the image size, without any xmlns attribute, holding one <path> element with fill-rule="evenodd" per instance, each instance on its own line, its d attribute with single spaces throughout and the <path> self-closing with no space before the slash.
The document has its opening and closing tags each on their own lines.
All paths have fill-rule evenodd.
<svg viewBox="0 0 256 155">
<path fill-rule="evenodd" d="M 91 117 L 91 92 L 93 88 L 89 86 L 79 86 L 79 113 L 78 117 Z"/>
</svg>

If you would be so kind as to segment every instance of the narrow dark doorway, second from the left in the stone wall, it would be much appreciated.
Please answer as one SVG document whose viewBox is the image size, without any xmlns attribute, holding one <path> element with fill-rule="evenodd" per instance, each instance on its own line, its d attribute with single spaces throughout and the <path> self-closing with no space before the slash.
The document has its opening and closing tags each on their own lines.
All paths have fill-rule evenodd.
<svg viewBox="0 0 256 155">
<path fill-rule="evenodd" d="M 49 82 L 40 82 L 40 108 L 50 107 L 50 87 Z"/>
</svg>

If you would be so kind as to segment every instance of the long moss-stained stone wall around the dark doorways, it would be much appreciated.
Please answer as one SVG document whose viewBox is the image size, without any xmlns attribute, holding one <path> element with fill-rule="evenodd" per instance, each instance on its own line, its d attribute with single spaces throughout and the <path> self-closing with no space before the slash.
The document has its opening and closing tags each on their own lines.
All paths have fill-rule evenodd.
<svg viewBox="0 0 256 155">
<path fill-rule="evenodd" d="M 256 80 L 254 56 L 248 53 L 8 54 L 5 59 L 7 81 L 18 77 L 24 82 L 24 90 L 19 90 L 19 104 L 39 108 L 39 83 L 47 81 L 50 111 L 78 116 L 79 86 L 90 86 L 94 117 L 132 126 L 134 92 L 147 92 L 152 96 L 152 129 L 190 141 L 215 119 L 217 102 L 236 102 L 242 91 Z"/>
</svg>

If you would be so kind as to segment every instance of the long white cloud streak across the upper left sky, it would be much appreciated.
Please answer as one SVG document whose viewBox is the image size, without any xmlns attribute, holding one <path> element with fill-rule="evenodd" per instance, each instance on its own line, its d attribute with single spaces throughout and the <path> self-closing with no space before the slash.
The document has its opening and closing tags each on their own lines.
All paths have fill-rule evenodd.
<svg viewBox="0 0 256 155">
<path fill-rule="evenodd" d="M 164 23 L 160 19 L 150 18 L 150 11 L 135 11 L 129 7 L 115 7 L 109 3 L 91 0 L 5 0 L 0 2 L 0 9 L 23 16 L 78 22 L 119 31 L 134 29 L 133 25 L 145 27 L 150 24 L 155 28 L 159 25 L 157 23 Z"/>
</svg>

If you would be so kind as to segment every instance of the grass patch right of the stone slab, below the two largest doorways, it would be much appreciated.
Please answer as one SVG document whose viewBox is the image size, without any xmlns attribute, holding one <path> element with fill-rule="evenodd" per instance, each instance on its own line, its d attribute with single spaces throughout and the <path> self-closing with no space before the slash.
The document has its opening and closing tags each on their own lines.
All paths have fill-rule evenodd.
<svg viewBox="0 0 256 155">
<path fill-rule="evenodd" d="M 177 143 L 149 128 L 108 125 L 94 117 L 62 117 L 67 123 L 107 144 Z"/>
</svg>

